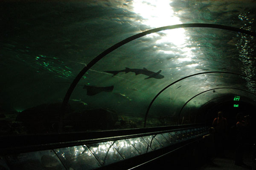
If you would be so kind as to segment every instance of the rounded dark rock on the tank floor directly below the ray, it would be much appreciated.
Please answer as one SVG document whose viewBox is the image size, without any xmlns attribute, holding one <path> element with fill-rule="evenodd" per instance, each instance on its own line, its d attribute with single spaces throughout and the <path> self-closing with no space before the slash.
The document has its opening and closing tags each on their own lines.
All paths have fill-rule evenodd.
<svg viewBox="0 0 256 170">
<path fill-rule="evenodd" d="M 108 130 L 114 127 L 118 120 L 117 114 L 112 109 L 98 108 L 76 112 L 67 117 L 70 126 L 76 131 L 84 130 Z"/>
</svg>

